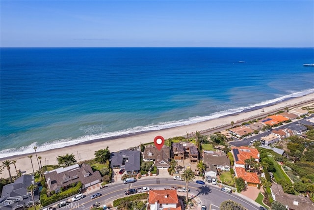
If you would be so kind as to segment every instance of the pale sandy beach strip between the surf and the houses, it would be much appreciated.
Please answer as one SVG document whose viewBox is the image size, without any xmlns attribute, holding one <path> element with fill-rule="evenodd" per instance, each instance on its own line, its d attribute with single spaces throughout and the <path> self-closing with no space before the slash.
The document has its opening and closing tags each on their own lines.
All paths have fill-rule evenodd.
<svg viewBox="0 0 314 210">
<path fill-rule="evenodd" d="M 65 155 L 66 153 L 73 153 L 78 162 L 83 160 L 88 160 L 94 158 L 94 152 L 96 150 L 104 149 L 107 146 L 109 147 L 110 151 L 118 151 L 123 149 L 128 149 L 130 147 L 135 147 L 140 145 L 141 143 L 149 143 L 153 142 L 154 138 L 157 135 L 163 136 L 165 139 L 175 137 L 175 136 L 183 136 L 186 133 L 192 133 L 195 131 L 208 131 L 210 132 L 211 129 L 226 129 L 230 128 L 231 121 L 235 122 L 236 124 L 240 124 L 243 121 L 261 118 L 263 116 L 267 116 L 270 113 L 277 112 L 279 110 L 283 110 L 286 107 L 294 108 L 294 107 L 302 107 L 306 104 L 313 104 L 314 103 L 314 93 L 292 98 L 271 106 L 265 106 L 261 109 L 249 111 L 249 112 L 241 112 L 235 115 L 226 116 L 218 119 L 208 120 L 204 122 L 199 122 L 190 125 L 184 125 L 164 130 L 158 131 L 151 131 L 147 133 L 140 133 L 137 135 L 131 136 L 124 136 L 116 139 L 111 140 L 95 140 L 86 142 L 79 145 L 73 145 L 65 148 L 48 150 L 43 152 L 37 152 L 38 156 L 41 156 L 42 165 L 54 165 L 56 164 L 56 157 L 58 155 Z M 264 112 L 262 112 L 262 109 Z M 32 173 L 32 167 L 30 163 L 30 159 L 27 157 L 29 154 L 7 157 L 5 159 L 12 159 L 16 160 L 16 167 L 17 169 L 21 169 L 23 173 L 29 174 Z M 32 153 L 32 162 L 34 166 L 34 170 L 38 170 L 38 164 L 36 160 L 35 153 Z M 4 159 L 2 158 L 1 161 Z M 11 175 L 15 175 L 14 165 L 11 165 Z M 3 178 L 7 178 L 8 171 L 6 169 L 3 170 L 2 175 Z"/>
</svg>

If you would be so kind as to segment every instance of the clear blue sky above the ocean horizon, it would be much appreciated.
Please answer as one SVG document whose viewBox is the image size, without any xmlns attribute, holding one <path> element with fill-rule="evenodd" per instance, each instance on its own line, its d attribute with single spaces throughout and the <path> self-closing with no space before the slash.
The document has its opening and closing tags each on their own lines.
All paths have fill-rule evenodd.
<svg viewBox="0 0 314 210">
<path fill-rule="evenodd" d="M 314 47 L 314 0 L 0 0 L 1 47 Z"/>
</svg>

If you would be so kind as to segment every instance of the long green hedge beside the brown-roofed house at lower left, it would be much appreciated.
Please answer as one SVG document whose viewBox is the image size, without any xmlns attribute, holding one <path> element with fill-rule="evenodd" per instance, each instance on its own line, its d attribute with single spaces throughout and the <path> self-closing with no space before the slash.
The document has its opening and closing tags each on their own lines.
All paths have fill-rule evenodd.
<svg viewBox="0 0 314 210">
<path fill-rule="evenodd" d="M 40 204 L 43 207 L 45 207 L 45 206 L 48 206 L 50 204 L 53 204 L 54 202 L 60 201 L 64 198 L 67 198 L 71 195 L 78 194 L 81 187 L 82 187 L 82 183 L 79 181 L 75 187 L 67 189 L 63 192 L 55 193 L 50 197 L 48 197 L 46 194 L 47 190 L 45 188 L 43 188 L 42 191 L 40 192 Z"/>
</svg>

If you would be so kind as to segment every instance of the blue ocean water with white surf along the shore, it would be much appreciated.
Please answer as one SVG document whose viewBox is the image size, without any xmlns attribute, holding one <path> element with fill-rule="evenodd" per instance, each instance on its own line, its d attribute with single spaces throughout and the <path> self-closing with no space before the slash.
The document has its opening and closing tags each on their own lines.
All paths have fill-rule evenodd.
<svg viewBox="0 0 314 210">
<path fill-rule="evenodd" d="M 0 59 L 0 158 L 314 92 L 302 65 L 313 48 L 0 48 Z"/>
</svg>

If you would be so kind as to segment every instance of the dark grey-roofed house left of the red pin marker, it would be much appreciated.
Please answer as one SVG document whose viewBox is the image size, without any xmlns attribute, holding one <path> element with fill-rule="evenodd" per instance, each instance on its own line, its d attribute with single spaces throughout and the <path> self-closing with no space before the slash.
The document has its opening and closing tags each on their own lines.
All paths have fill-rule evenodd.
<svg viewBox="0 0 314 210">
<path fill-rule="evenodd" d="M 123 168 L 127 174 L 137 174 L 140 169 L 141 152 L 120 150 L 111 152 L 109 162 L 112 168 Z"/>
</svg>

